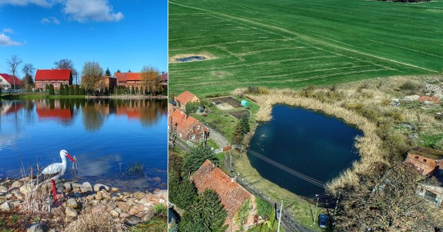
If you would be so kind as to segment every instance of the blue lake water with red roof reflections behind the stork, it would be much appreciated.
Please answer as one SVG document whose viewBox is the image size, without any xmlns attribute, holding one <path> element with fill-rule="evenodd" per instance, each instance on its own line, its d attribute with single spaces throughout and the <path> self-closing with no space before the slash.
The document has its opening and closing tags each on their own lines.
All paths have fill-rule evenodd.
<svg viewBox="0 0 443 232">
<path fill-rule="evenodd" d="M 149 99 L 0 101 L 0 177 L 21 177 L 20 156 L 28 171 L 61 162 L 65 149 L 77 157 L 78 173 L 64 179 L 165 189 L 166 108 L 166 100 Z"/>
</svg>

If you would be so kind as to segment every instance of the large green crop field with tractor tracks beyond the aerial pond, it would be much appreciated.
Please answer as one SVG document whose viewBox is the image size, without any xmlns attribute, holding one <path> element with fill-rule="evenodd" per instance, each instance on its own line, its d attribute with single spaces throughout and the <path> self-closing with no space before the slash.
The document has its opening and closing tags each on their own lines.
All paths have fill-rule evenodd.
<svg viewBox="0 0 443 232">
<path fill-rule="evenodd" d="M 443 1 L 169 1 L 170 94 L 441 72 Z"/>
</svg>

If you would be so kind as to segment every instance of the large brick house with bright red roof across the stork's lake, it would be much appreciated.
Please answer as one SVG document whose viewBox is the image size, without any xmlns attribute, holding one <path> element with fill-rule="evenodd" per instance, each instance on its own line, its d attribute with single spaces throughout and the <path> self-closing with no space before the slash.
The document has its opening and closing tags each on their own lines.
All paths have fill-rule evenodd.
<svg viewBox="0 0 443 232">
<path fill-rule="evenodd" d="M 55 89 L 62 85 L 72 84 L 72 72 L 70 69 L 37 69 L 35 73 L 35 88 L 45 89 L 52 84 Z"/>
</svg>

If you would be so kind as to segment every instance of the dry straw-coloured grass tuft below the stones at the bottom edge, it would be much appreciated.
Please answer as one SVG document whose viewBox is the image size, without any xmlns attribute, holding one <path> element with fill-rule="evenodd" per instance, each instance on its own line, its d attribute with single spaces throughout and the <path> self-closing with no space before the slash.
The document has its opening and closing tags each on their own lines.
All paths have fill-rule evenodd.
<svg viewBox="0 0 443 232">
<path fill-rule="evenodd" d="M 118 232 L 124 231 L 126 226 L 121 222 L 114 221 L 112 215 L 106 211 L 100 211 L 98 213 L 91 213 L 89 210 L 85 210 L 78 215 L 77 220 L 73 220 L 69 223 L 64 231 L 66 232 Z"/>
</svg>

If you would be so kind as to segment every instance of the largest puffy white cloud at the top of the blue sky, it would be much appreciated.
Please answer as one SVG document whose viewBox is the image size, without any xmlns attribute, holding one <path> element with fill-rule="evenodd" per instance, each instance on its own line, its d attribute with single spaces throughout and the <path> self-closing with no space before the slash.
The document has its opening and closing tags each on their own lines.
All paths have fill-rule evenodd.
<svg viewBox="0 0 443 232">
<path fill-rule="evenodd" d="M 124 15 L 115 13 L 107 0 L 67 0 L 64 13 L 75 21 L 120 21 Z"/>
</svg>

